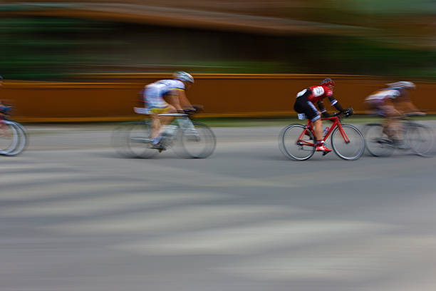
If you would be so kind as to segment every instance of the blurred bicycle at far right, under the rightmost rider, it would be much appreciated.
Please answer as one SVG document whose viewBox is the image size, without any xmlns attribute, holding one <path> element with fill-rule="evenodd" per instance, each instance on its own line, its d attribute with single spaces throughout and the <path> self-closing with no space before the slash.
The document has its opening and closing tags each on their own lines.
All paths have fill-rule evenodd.
<svg viewBox="0 0 436 291">
<path fill-rule="evenodd" d="M 403 143 L 395 143 L 385 131 L 382 123 L 368 123 L 363 130 L 365 146 L 370 155 L 375 157 L 388 157 L 395 149 L 410 150 L 421 157 L 435 155 L 435 134 L 432 128 L 416 123 L 403 117 L 400 130 L 403 133 Z"/>
</svg>

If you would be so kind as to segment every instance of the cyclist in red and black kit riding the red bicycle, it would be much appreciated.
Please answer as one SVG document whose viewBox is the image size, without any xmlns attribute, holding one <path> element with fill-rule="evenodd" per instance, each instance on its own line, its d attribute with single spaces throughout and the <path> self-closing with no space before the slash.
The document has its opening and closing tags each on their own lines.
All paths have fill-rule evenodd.
<svg viewBox="0 0 436 291">
<path fill-rule="evenodd" d="M 323 104 L 323 98 L 327 97 L 332 106 L 335 106 L 338 111 L 344 112 L 341 104 L 333 97 L 334 86 L 335 82 L 331 78 L 325 78 L 320 86 L 311 86 L 297 93 L 294 104 L 296 112 L 306 114 L 306 117 L 312 121 L 316 138 L 316 151 L 323 151 L 324 153 L 331 152 L 331 149 L 327 148 L 323 141 L 321 114 L 324 118 L 330 117 Z M 320 111 L 316 109 L 314 103 L 316 103 Z M 348 110 L 345 112 L 346 116 L 350 114 Z"/>
</svg>

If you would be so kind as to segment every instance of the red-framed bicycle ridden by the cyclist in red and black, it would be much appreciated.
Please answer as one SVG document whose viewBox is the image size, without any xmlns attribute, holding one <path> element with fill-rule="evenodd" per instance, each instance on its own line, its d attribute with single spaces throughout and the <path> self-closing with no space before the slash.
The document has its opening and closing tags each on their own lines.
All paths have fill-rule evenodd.
<svg viewBox="0 0 436 291">
<path fill-rule="evenodd" d="M 353 108 L 349 111 L 353 113 Z M 350 124 L 341 123 L 341 112 L 333 114 L 322 121 L 333 121 L 331 128 L 323 138 L 323 141 L 331 136 L 333 151 L 343 160 L 357 160 L 365 151 L 365 141 L 358 128 Z M 351 115 L 350 114 L 350 115 Z M 304 113 L 298 115 L 300 120 L 306 119 Z M 291 124 L 281 130 L 279 135 L 279 148 L 281 153 L 293 160 L 308 160 L 316 150 L 312 122 L 309 120 L 306 126 Z M 327 153 L 323 153 L 326 155 Z"/>
</svg>

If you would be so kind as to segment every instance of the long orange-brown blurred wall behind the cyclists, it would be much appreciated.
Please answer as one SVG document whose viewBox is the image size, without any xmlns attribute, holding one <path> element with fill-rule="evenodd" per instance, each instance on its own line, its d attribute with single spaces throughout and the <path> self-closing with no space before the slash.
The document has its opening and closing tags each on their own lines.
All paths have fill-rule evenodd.
<svg viewBox="0 0 436 291">
<path fill-rule="evenodd" d="M 138 91 L 152 81 L 170 74 L 86 75 L 93 82 L 5 81 L 0 100 L 15 107 L 12 118 L 22 122 L 125 121 L 141 118 L 133 113 Z M 202 116 L 296 116 L 296 93 L 317 85 L 324 75 L 194 75 L 195 84 L 187 92 L 192 103 L 202 104 Z M 335 96 L 343 107 L 353 106 L 365 113 L 363 100 L 383 88 L 391 79 L 372 76 L 329 76 L 336 82 Z M 419 81 L 410 98 L 418 108 L 436 113 L 431 98 L 436 83 Z M 329 102 L 325 102 L 329 109 Z M 331 111 L 334 108 L 330 108 Z"/>
</svg>

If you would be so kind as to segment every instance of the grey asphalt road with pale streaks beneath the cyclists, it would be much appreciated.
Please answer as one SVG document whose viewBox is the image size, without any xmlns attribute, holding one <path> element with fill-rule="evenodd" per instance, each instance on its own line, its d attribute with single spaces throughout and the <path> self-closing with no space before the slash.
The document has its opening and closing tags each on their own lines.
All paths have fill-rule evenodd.
<svg viewBox="0 0 436 291">
<path fill-rule="evenodd" d="M 1 291 L 436 289 L 436 158 L 296 162 L 268 127 L 141 160 L 107 126 L 28 128 L 0 157 Z"/>
</svg>

